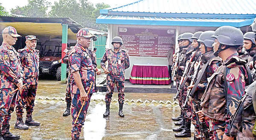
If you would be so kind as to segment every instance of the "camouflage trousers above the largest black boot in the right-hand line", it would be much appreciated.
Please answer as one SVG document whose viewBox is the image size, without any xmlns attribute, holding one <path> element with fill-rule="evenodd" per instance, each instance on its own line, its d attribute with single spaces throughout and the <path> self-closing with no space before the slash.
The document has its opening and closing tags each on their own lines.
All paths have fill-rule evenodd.
<svg viewBox="0 0 256 140">
<path fill-rule="evenodd" d="M 192 118 L 192 111 L 191 111 L 191 103 L 189 101 L 187 102 L 186 106 L 184 106 L 185 100 L 186 100 L 186 95 L 187 95 L 187 87 L 186 84 L 183 86 L 182 90 L 182 107 L 183 111 L 185 113 L 184 118 L 186 119 L 186 122 L 189 122 Z"/>
</svg>

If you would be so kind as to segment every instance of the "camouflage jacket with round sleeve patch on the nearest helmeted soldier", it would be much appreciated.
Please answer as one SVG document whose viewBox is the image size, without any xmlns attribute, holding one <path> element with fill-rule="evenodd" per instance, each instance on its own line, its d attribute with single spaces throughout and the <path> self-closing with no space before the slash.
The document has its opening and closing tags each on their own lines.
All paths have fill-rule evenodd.
<svg viewBox="0 0 256 140">
<path fill-rule="evenodd" d="M 238 102 L 244 94 L 244 86 L 248 85 L 245 64 L 246 61 L 239 59 L 237 53 L 228 57 L 209 77 L 209 83 L 201 98 L 203 114 L 215 120 L 225 121 L 227 135 L 230 131 L 230 117 L 235 113 Z M 216 129 L 217 126 L 212 126 L 212 130 Z"/>
</svg>

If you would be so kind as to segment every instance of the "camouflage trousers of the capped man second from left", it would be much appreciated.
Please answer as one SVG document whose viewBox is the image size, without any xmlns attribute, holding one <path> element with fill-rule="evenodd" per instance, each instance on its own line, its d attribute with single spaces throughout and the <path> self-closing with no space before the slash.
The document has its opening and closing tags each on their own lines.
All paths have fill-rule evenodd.
<svg viewBox="0 0 256 140">
<path fill-rule="evenodd" d="M 23 86 L 22 92 L 18 92 L 16 100 L 16 115 L 23 115 L 26 105 L 27 115 L 31 115 L 34 111 L 35 106 L 35 94 L 37 91 L 37 85 L 26 85 Z"/>
</svg>

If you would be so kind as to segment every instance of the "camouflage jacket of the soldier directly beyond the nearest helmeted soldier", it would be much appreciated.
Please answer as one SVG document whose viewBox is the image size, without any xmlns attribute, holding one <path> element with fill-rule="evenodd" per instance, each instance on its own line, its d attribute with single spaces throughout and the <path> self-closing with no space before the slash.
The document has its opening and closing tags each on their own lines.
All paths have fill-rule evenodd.
<svg viewBox="0 0 256 140">
<path fill-rule="evenodd" d="M 197 96 L 197 99 L 201 99 L 201 97 L 203 96 L 204 94 L 204 91 L 206 89 L 206 86 L 208 84 L 208 81 L 207 81 L 207 78 L 211 77 L 212 74 L 214 72 L 216 72 L 216 70 L 218 69 L 218 65 L 221 63 L 221 58 L 220 57 L 213 57 L 213 50 L 212 51 L 209 51 L 205 54 L 202 55 L 201 57 L 201 61 L 202 61 L 202 66 L 203 67 L 207 61 L 210 61 L 208 63 L 208 66 L 207 68 L 205 69 L 205 71 L 202 71 L 202 69 L 198 72 L 199 74 L 204 72 L 198 86 L 197 86 L 197 91 L 196 91 L 196 96 Z M 198 74 L 198 75 L 199 75 Z"/>
</svg>

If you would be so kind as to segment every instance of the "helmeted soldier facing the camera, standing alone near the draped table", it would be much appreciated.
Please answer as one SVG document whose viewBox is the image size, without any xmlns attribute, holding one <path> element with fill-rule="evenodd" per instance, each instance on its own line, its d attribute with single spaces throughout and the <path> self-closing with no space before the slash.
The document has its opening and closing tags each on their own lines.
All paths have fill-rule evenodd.
<svg viewBox="0 0 256 140">
<path fill-rule="evenodd" d="M 122 112 L 124 100 L 125 100 L 125 69 L 130 66 L 129 55 L 126 50 L 123 50 L 121 37 L 114 37 L 112 40 L 113 49 L 108 49 L 101 59 L 101 67 L 107 75 L 107 92 L 105 97 L 106 112 L 103 117 L 108 117 L 110 111 L 111 97 L 116 84 L 118 90 L 118 102 L 120 117 L 125 117 Z M 108 68 L 105 66 L 105 62 L 108 61 Z"/>
</svg>

